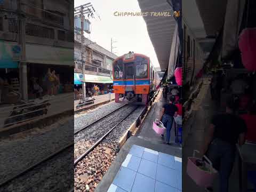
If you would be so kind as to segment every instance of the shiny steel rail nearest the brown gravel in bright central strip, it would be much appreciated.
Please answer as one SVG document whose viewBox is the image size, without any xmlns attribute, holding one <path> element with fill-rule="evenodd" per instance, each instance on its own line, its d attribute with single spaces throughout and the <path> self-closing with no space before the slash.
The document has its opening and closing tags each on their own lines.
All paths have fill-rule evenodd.
<svg viewBox="0 0 256 192">
<path fill-rule="evenodd" d="M 81 156 L 79 156 L 75 162 L 74 162 L 74 166 L 76 166 L 76 164 L 81 161 L 85 156 L 87 156 L 95 147 L 97 147 L 99 145 L 99 143 L 101 143 L 101 141 L 103 139 L 105 139 L 107 137 L 107 135 L 113 131 L 119 124 L 121 124 L 127 117 L 129 117 L 136 109 L 138 109 L 138 106 L 135 107 L 129 114 L 127 114 L 119 123 L 117 123 L 115 126 L 113 126 L 107 133 L 105 133 L 98 141 L 96 141 L 93 146 L 91 146 L 89 149 L 87 149 L 85 151 L 84 154 L 82 154 Z"/>
</svg>

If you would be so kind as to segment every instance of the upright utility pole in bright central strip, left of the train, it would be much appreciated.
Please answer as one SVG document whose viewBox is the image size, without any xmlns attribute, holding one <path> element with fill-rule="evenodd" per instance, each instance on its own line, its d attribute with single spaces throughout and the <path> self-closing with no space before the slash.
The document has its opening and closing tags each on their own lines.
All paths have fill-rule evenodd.
<svg viewBox="0 0 256 192">
<path fill-rule="evenodd" d="M 84 77 L 84 81 L 82 82 L 83 84 L 83 97 L 84 99 L 86 98 L 86 86 L 85 86 L 85 74 L 84 74 L 84 60 L 83 60 L 83 44 L 84 44 L 84 6 L 81 5 L 81 9 L 80 9 L 80 17 L 81 17 L 81 57 L 82 57 L 82 73 L 83 73 L 83 77 Z"/>
</svg>

